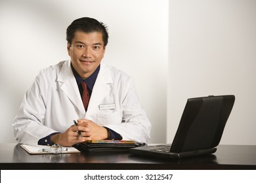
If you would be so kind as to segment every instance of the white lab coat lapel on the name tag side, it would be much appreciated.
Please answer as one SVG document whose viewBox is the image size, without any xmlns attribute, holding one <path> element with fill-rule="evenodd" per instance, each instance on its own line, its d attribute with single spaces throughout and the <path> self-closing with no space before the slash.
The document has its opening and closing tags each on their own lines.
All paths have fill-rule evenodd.
<svg viewBox="0 0 256 183">
<path fill-rule="evenodd" d="M 86 116 L 89 116 L 95 112 L 95 108 L 98 108 L 100 101 L 104 99 L 107 93 L 109 93 L 110 86 L 112 83 L 112 75 L 110 69 L 104 64 L 100 64 L 100 71 L 93 86 L 93 92 L 89 101 L 89 106 Z"/>
</svg>

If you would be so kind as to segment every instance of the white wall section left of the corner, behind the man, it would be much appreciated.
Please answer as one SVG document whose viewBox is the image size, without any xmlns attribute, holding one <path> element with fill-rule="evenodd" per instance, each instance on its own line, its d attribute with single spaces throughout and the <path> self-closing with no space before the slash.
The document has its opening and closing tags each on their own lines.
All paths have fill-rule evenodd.
<svg viewBox="0 0 256 183">
<path fill-rule="evenodd" d="M 1 0 L 0 142 L 15 142 L 11 124 L 24 93 L 40 69 L 69 58 L 66 27 L 83 16 L 108 25 L 104 61 L 135 78 L 153 126 L 150 142 L 165 142 L 168 4 L 167 0 Z"/>
</svg>

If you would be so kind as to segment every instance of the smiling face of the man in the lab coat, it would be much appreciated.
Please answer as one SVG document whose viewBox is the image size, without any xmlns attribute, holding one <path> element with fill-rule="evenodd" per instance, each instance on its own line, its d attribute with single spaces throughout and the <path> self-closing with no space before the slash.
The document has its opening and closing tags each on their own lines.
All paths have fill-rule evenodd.
<svg viewBox="0 0 256 183">
<path fill-rule="evenodd" d="M 72 66 L 84 79 L 91 76 L 100 65 L 104 53 L 104 42 L 99 32 L 76 31 L 72 44 L 68 43 L 68 55 Z"/>
</svg>

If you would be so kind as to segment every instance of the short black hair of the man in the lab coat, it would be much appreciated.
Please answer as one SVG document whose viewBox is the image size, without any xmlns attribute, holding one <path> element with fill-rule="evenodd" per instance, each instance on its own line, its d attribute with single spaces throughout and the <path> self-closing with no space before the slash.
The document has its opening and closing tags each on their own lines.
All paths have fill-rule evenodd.
<svg viewBox="0 0 256 183">
<path fill-rule="evenodd" d="M 104 48 L 108 44 L 108 27 L 94 18 L 78 18 L 68 26 L 66 31 L 66 41 L 70 44 L 72 44 L 72 40 L 74 39 L 75 31 L 83 31 L 85 33 L 99 32 L 102 34 Z"/>
</svg>

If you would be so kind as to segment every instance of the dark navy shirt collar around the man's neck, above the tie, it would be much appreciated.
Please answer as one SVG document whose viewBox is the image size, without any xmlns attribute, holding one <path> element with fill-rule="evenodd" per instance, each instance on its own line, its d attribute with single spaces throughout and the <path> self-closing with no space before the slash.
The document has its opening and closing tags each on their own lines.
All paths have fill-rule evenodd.
<svg viewBox="0 0 256 183">
<path fill-rule="evenodd" d="M 87 84 L 88 88 L 92 91 L 93 90 L 93 86 L 95 85 L 96 78 L 98 76 L 98 72 L 100 71 L 100 65 L 98 65 L 98 67 L 95 70 L 95 72 L 91 76 L 86 78 L 85 80 L 83 78 L 81 78 L 81 76 L 78 75 L 78 73 L 75 71 L 75 69 L 72 66 L 72 64 L 71 64 L 71 67 L 72 67 L 72 71 L 74 73 L 77 85 L 79 86 L 81 84 L 81 82 L 84 81 Z"/>
</svg>

